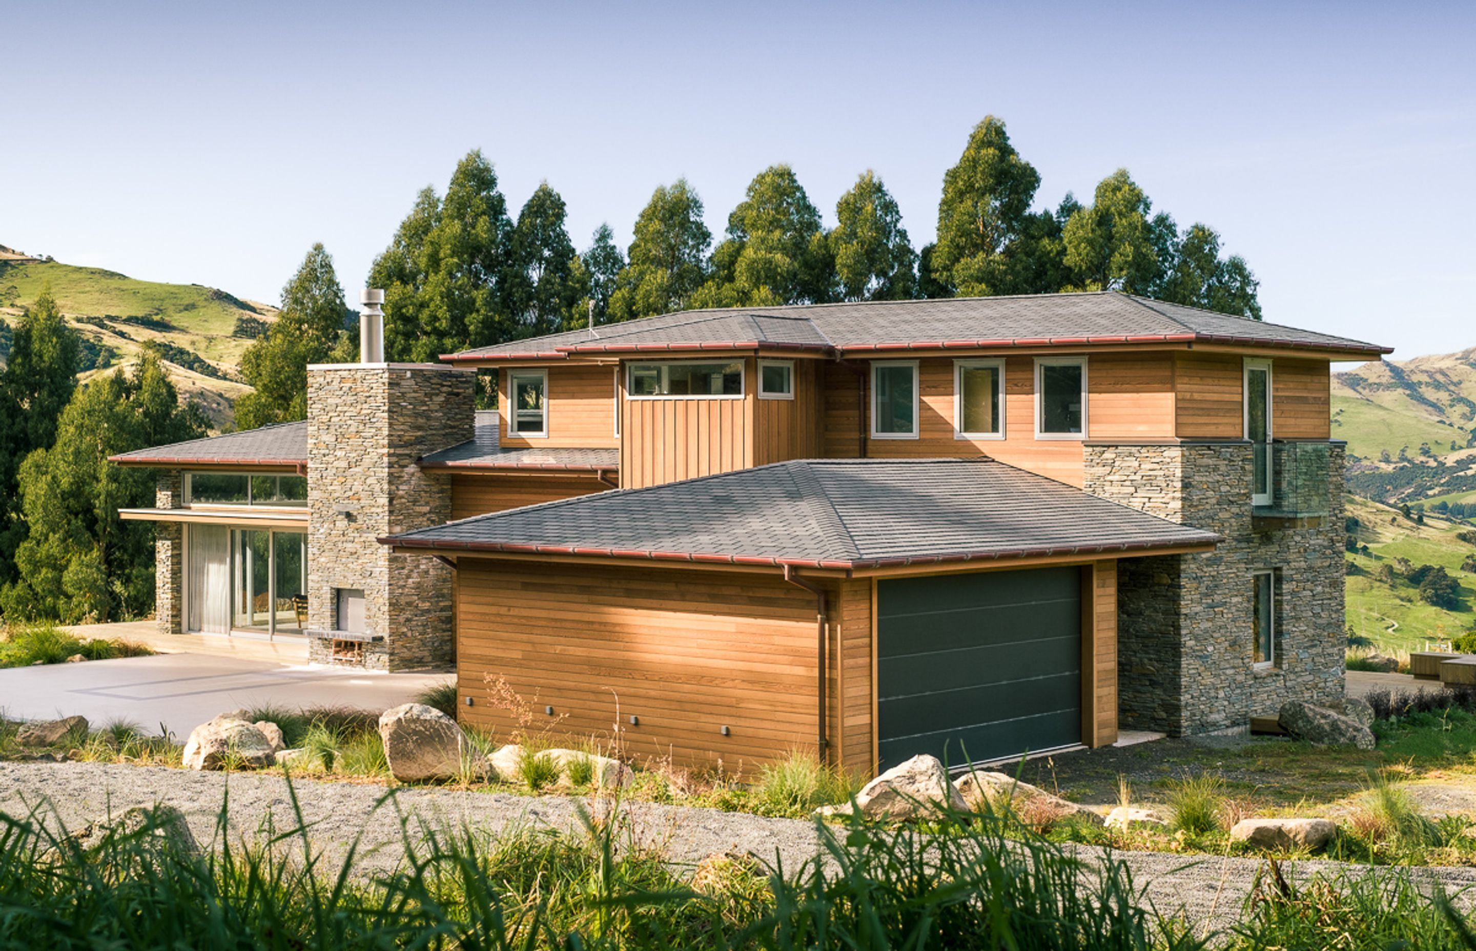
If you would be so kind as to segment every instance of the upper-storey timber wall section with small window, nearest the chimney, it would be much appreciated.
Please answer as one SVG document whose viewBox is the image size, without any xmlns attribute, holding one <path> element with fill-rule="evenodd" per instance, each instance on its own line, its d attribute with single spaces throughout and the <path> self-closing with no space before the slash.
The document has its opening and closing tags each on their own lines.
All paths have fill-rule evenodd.
<svg viewBox="0 0 1476 951">
<path fill-rule="evenodd" d="M 508 434 L 508 369 L 497 371 L 497 436 L 503 446 L 614 449 L 617 368 L 610 363 L 570 363 L 530 368 L 548 374 L 543 405 L 548 436 Z"/>
</svg>

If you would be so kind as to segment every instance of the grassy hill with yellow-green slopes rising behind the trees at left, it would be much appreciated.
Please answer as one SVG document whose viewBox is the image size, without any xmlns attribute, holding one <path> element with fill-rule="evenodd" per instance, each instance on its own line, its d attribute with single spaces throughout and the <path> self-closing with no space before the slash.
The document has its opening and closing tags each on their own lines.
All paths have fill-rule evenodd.
<svg viewBox="0 0 1476 951">
<path fill-rule="evenodd" d="M 9 250 L 6 250 L 9 251 Z M 112 270 L 0 257 L 0 325 L 32 306 L 46 286 L 81 334 L 86 380 L 139 359 L 154 343 L 180 394 L 198 400 L 217 428 L 232 422 L 232 405 L 249 387 L 241 380 L 241 354 L 275 319 L 276 309 L 198 284 L 137 281 Z M 0 329 L 0 359 L 9 350 Z"/>
</svg>

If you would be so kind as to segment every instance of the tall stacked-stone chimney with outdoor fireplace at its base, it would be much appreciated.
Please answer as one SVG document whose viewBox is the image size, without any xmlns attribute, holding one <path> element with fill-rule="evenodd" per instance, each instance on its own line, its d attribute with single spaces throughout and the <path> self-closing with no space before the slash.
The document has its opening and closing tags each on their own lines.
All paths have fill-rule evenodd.
<svg viewBox="0 0 1476 951">
<path fill-rule="evenodd" d="M 424 473 L 428 452 L 472 439 L 475 374 L 446 366 L 308 368 L 308 628 L 311 660 L 384 670 L 452 663 L 452 571 L 393 555 L 385 535 L 450 521 L 450 480 Z M 365 592 L 365 631 L 342 632 L 338 589 Z M 362 644 L 362 656 L 334 650 Z"/>
</svg>

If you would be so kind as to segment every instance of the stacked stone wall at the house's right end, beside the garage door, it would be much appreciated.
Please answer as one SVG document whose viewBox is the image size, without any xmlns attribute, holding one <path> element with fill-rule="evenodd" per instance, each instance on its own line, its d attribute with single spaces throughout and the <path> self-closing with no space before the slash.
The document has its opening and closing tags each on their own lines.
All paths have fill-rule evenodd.
<svg viewBox="0 0 1476 951">
<path fill-rule="evenodd" d="M 1215 552 L 1119 561 L 1119 716 L 1172 735 L 1243 731 L 1283 701 L 1343 696 L 1343 446 L 1330 511 L 1258 521 L 1250 443 L 1086 446 L 1085 487 L 1225 536 Z M 1275 665 L 1253 665 L 1252 573 L 1280 574 Z"/>
</svg>

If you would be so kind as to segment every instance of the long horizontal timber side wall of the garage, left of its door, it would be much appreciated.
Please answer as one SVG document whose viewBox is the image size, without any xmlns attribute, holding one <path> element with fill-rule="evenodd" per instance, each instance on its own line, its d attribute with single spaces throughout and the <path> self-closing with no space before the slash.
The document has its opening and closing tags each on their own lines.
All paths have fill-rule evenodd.
<svg viewBox="0 0 1476 951">
<path fill-rule="evenodd" d="M 815 607 L 778 574 L 463 557 L 456 659 L 474 706 L 459 709 L 509 735 L 514 715 L 489 703 L 487 678 L 502 678 L 534 732 L 618 735 L 638 762 L 751 771 L 815 750 Z"/>
</svg>

